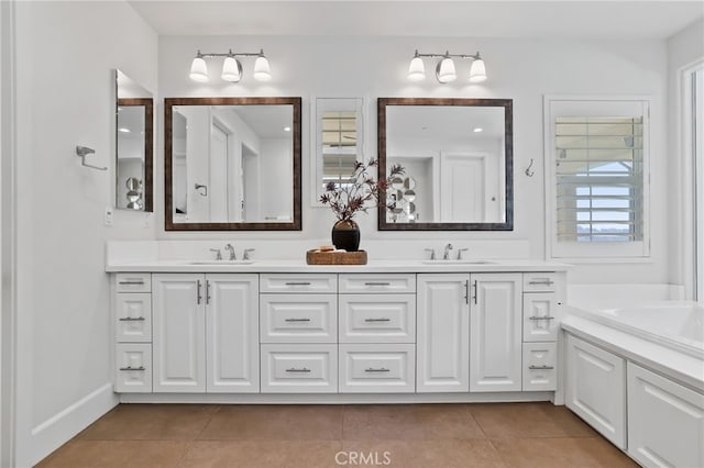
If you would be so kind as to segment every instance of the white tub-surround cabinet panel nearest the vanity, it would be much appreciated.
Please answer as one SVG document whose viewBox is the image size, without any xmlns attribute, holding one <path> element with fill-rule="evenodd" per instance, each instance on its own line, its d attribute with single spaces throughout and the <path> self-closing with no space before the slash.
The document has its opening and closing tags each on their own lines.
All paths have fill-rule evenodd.
<svg viewBox="0 0 704 468">
<path fill-rule="evenodd" d="M 573 335 L 566 346 L 566 406 L 626 448 L 626 361 Z"/>
</svg>

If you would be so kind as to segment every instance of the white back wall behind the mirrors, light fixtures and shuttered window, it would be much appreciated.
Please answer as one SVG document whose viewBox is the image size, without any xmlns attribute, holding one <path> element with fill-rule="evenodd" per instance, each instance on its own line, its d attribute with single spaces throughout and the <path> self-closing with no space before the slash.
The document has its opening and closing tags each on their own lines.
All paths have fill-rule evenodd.
<svg viewBox="0 0 704 468">
<path fill-rule="evenodd" d="M 188 66 L 196 49 L 208 52 L 257 51 L 263 47 L 272 66 L 273 80 L 252 78 L 253 63 L 243 59 L 240 83 L 226 83 L 217 75 L 219 62 L 211 62 L 213 79 L 196 83 L 188 79 Z M 421 83 L 406 80 L 414 51 L 454 53 L 482 52 L 490 79 L 470 85 L 458 79 L 439 85 L 431 74 Z M 469 64 L 462 64 L 469 73 Z M 430 63 L 426 64 L 432 69 Z M 460 71 L 462 73 L 462 71 Z M 475 97 L 514 100 L 515 230 L 513 232 L 377 232 L 376 216 L 361 214 L 362 248 L 374 241 L 415 241 L 406 255 L 420 257 L 422 248 L 451 241 L 471 244 L 472 255 L 482 256 L 486 241 L 520 245 L 526 257 L 544 258 L 544 196 L 542 177 L 543 94 L 649 94 L 652 97 L 652 261 L 635 265 L 583 265 L 571 272 L 578 282 L 668 282 L 668 226 L 666 196 L 668 154 L 666 144 L 667 56 L 664 41 L 539 41 L 499 38 L 398 38 L 398 37 L 272 37 L 272 36 L 162 36 L 160 37 L 161 97 L 300 96 L 302 97 L 302 231 L 300 233 L 227 233 L 233 241 L 299 239 L 315 245 L 329 238 L 333 222 L 327 208 L 310 207 L 309 142 L 310 102 L 315 97 L 363 97 L 366 100 L 366 157 L 376 155 L 376 98 L 378 97 Z M 161 135 L 163 132 L 157 132 Z M 160 142 L 163 147 L 163 142 Z M 157 151 L 156 180 L 163 180 Z M 524 169 L 536 159 L 535 177 Z M 157 193 L 162 189 L 157 187 Z M 168 239 L 220 238 L 223 233 L 172 233 L 163 231 L 163 200 L 157 200 L 158 236 Z M 213 241 L 215 242 L 215 241 Z M 301 247 L 301 258 L 305 247 Z M 257 250 L 258 252 L 258 250 Z M 510 248 L 506 248 L 510 252 Z"/>
</svg>

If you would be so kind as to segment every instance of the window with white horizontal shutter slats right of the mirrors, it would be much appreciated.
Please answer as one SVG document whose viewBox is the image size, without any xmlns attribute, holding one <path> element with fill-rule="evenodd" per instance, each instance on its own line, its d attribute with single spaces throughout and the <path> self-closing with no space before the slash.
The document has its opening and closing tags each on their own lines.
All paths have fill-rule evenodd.
<svg viewBox="0 0 704 468">
<path fill-rule="evenodd" d="M 558 242 L 642 241 L 642 116 L 560 116 L 554 125 Z"/>
</svg>

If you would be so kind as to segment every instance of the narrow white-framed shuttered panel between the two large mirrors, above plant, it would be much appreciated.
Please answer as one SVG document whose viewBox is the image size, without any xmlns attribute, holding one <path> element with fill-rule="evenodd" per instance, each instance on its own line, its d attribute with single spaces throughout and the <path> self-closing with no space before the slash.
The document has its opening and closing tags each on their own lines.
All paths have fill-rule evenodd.
<svg viewBox="0 0 704 468">
<path fill-rule="evenodd" d="M 362 98 L 317 98 L 315 122 L 311 125 L 316 142 L 312 164 L 312 204 L 320 207 L 320 196 L 328 182 L 343 183 L 352 177 L 354 163 L 363 160 Z"/>
</svg>

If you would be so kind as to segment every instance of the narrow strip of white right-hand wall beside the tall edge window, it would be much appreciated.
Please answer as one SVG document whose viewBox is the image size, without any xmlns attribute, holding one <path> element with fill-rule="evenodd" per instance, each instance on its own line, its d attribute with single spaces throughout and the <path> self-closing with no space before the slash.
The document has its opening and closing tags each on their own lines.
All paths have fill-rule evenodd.
<svg viewBox="0 0 704 468">
<path fill-rule="evenodd" d="M 670 282 L 685 286 L 686 298 L 694 297 L 694 170 L 693 155 L 688 147 L 691 133 L 684 129 L 682 107 L 686 90 L 683 89 L 682 73 L 696 62 L 704 60 L 704 20 L 700 20 L 668 40 L 668 165 L 667 194 L 669 204 L 668 225 L 674 227 L 670 243 Z M 691 105 L 691 104 L 690 104 Z"/>
</svg>

